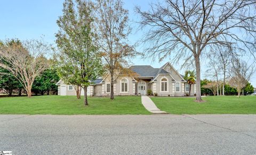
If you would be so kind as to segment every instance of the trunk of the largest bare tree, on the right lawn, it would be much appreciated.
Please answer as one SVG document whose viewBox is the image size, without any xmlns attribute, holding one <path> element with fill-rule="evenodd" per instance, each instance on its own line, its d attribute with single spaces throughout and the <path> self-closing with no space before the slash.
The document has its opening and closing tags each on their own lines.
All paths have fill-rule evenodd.
<svg viewBox="0 0 256 155">
<path fill-rule="evenodd" d="M 199 56 L 195 56 L 196 62 L 196 101 L 202 101 L 201 98 L 201 72 L 200 72 L 200 59 Z"/>
</svg>

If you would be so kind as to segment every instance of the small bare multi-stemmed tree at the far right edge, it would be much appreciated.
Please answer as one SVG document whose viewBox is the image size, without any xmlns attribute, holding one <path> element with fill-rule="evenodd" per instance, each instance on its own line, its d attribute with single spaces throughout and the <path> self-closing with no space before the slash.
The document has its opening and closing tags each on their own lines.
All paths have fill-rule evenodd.
<svg viewBox="0 0 256 155">
<path fill-rule="evenodd" d="M 236 88 L 238 97 L 240 96 L 241 90 L 246 86 L 248 81 L 251 79 L 255 72 L 255 67 L 247 65 L 246 62 L 233 59 L 233 67 L 231 67 L 229 85 Z"/>
</svg>

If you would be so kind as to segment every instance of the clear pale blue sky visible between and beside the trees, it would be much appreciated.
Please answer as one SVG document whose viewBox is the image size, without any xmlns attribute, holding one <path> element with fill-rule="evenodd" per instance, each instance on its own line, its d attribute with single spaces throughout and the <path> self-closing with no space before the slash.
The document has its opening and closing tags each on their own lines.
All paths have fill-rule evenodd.
<svg viewBox="0 0 256 155">
<path fill-rule="evenodd" d="M 143 32 L 138 31 L 138 24 L 134 21 L 139 20 L 138 14 L 134 12 L 136 5 L 142 10 L 148 10 L 149 3 L 156 0 L 124 0 L 124 8 L 129 10 L 130 24 L 132 33 L 129 36 L 131 44 L 135 44 L 141 39 Z M 63 0 L 1 0 L 0 3 L 0 40 L 7 38 L 39 39 L 43 37 L 50 44 L 55 44 L 55 33 L 58 31 L 56 21 L 62 14 Z M 143 46 L 138 46 L 137 51 L 142 51 Z M 203 59 L 203 58 L 201 58 Z M 153 58 L 142 59 L 140 57 L 132 60 L 133 65 L 151 65 L 153 67 L 161 67 L 166 62 L 171 61 L 170 58 L 158 62 Z M 172 63 L 172 62 L 171 62 Z M 207 60 L 203 59 L 201 63 L 201 76 L 205 76 Z M 184 74 L 186 68 L 180 68 L 182 61 L 179 64 L 172 63 L 174 68 Z M 201 77 L 201 79 L 203 79 Z M 208 77 L 209 78 L 209 77 Z M 250 81 L 256 87 L 256 74 Z"/>
</svg>

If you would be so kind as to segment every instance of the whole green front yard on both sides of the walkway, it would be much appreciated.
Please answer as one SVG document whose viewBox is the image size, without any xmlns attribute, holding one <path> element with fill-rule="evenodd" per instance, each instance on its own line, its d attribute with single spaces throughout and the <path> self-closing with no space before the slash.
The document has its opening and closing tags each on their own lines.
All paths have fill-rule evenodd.
<svg viewBox="0 0 256 155">
<path fill-rule="evenodd" d="M 170 114 L 256 114 L 256 96 L 210 96 L 206 102 L 195 98 L 151 97 L 156 106 Z M 59 115 L 123 115 L 150 114 L 141 104 L 141 97 L 89 97 L 89 106 L 75 96 L 34 96 L 0 98 L 0 114 L 59 114 Z"/>
</svg>

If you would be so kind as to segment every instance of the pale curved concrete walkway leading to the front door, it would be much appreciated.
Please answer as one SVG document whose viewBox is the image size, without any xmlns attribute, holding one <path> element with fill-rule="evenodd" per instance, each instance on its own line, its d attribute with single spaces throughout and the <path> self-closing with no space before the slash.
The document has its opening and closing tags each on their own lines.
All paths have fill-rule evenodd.
<svg viewBox="0 0 256 155">
<path fill-rule="evenodd" d="M 142 105 L 153 114 L 166 114 L 165 111 L 161 111 L 156 107 L 154 102 L 148 96 L 141 96 Z"/>
</svg>

